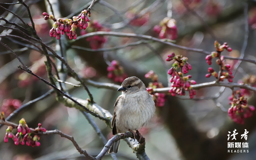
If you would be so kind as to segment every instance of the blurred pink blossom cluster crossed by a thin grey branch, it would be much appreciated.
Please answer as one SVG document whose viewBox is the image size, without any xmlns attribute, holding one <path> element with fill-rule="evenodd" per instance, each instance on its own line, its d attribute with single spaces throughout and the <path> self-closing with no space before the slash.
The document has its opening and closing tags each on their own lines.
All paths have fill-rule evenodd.
<svg viewBox="0 0 256 160">
<path fill-rule="evenodd" d="M 98 31 L 109 31 L 109 29 L 104 28 L 98 22 L 98 20 L 94 20 L 89 24 L 88 29 L 86 31 L 84 30 L 81 31 L 81 35 L 91 33 L 91 32 L 98 32 Z M 98 49 L 98 48 L 101 48 L 104 43 L 106 43 L 107 39 L 104 36 L 92 36 L 92 37 L 86 38 L 86 41 L 90 42 L 90 46 L 92 49 Z"/>
</svg>

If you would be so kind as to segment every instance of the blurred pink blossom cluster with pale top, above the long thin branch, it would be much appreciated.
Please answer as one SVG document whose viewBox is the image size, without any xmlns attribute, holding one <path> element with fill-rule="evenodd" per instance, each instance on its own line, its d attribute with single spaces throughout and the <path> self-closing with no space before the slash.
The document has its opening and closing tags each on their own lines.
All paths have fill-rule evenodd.
<svg viewBox="0 0 256 160">
<path fill-rule="evenodd" d="M 178 31 L 176 26 L 176 20 L 172 18 L 164 18 L 160 25 L 154 26 L 154 32 L 159 34 L 159 38 L 168 38 L 170 40 L 176 40 L 178 38 Z"/>
</svg>

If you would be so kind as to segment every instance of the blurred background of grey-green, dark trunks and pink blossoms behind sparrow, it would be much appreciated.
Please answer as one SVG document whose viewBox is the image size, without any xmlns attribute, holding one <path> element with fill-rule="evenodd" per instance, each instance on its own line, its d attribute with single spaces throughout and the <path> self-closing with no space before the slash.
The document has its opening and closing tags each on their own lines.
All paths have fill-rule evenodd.
<svg viewBox="0 0 256 160">
<path fill-rule="evenodd" d="M 17 1 L 1 0 L 1 2 Z M 49 13 L 46 5 L 48 1 L 24 0 L 24 2 L 29 5 L 38 36 L 52 49 L 58 49 L 59 43 L 56 38 L 49 36 L 52 22 L 44 20 L 42 15 L 43 12 Z M 53 5 L 55 18 L 78 16 L 90 5 L 89 0 L 50 0 L 49 2 Z M 31 25 L 28 12 L 21 4 L 0 4 L 0 6 L 1 17 L 24 26 L 20 20 L 2 7 L 8 8 L 20 16 L 25 23 Z M 163 29 L 163 21 L 166 17 L 172 21 L 172 30 L 161 35 L 159 31 Z M 224 51 L 223 55 L 239 57 L 241 52 L 244 52 L 244 58 L 256 60 L 254 45 L 256 1 L 254 0 L 96 0 L 91 10 L 90 20 L 86 30 L 76 29 L 78 37 L 96 31 L 136 33 L 161 39 L 168 38 L 175 44 L 209 52 L 216 50 L 214 41 L 218 40 L 221 44 L 227 42 L 232 48 L 231 52 Z M 12 26 L 3 20 L 0 24 Z M 0 27 L 0 35 L 5 34 L 21 36 L 16 31 Z M 0 41 L 12 48 L 34 73 L 48 80 L 44 64 L 46 58 L 34 46 L 14 38 L 0 37 Z M 173 61 L 168 62 L 165 59 L 167 55 L 174 52 L 176 55 L 188 57 L 188 62 L 192 65 L 192 70 L 188 74 L 192 75 L 192 79 L 197 84 L 215 80 L 214 77 L 205 77 L 209 67 L 205 61 L 205 54 L 152 41 L 140 41 L 140 44 L 135 44 L 138 41 L 140 41 L 138 38 L 114 36 L 94 36 L 74 41 L 69 40 L 66 35 L 62 36 L 62 45 L 65 45 L 64 53 L 68 64 L 84 79 L 120 85 L 124 78 L 137 76 L 148 86 L 152 80 L 145 78 L 145 74 L 152 70 L 158 75 L 158 83 L 168 87 L 167 71 L 172 67 Z M 134 45 L 123 46 L 131 43 Z M 116 46 L 123 47 L 112 48 Z M 86 49 L 78 49 L 79 47 Z M 243 47 L 245 51 L 242 50 Z M 112 49 L 100 50 L 100 48 Z M 226 62 L 234 65 L 238 60 L 226 59 Z M 118 74 L 108 69 L 109 66 L 116 66 L 116 63 L 118 63 Z M 19 70 L 18 65 L 20 65 L 18 60 L 1 45 L 0 111 L 4 111 L 6 117 L 22 104 L 51 89 L 37 78 Z M 218 65 L 215 63 L 212 67 L 218 70 Z M 233 81 L 237 83 L 252 75 L 255 75 L 255 63 L 242 61 Z M 79 84 L 69 76 L 66 81 Z M 254 83 L 255 81 L 250 85 L 254 86 Z M 87 86 L 94 101 L 113 113 L 114 102 L 120 93 Z M 76 98 L 84 100 L 88 98 L 82 87 L 66 85 L 66 88 L 68 93 Z M 189 99 L 188 93 L 186 96 L 177 97 L 167 95 L 163 98 L 164 103 L 156 106 L 155 116 L 140 130 L 146 138 L 145 150 L 148 157 L 151 160 L 255 159 L 255 113 L 246 119 L 244 124 L 236 124 L 227 113 L 230 107 L 228 97 L 232 95 L 229 88 L 208 87 L 196 92 L 194 99 Z M 250 93 L 247 97 L 248 104 L 256 106 L 254 93 Z M 12 122 L 18 124 L 21 118 L 24 118 L 31 128 L 36 128 L 40 122 L 46 130 L 58 129 L 73 136 L 90 155 L 98 155 L 104 147 L 84 115 L 75 108 L 68 108 L 57 102 L 54 94 L 30 105 L 28 109 L 16 115 Z M 110 139 L 111 128 L 102 120 L 92 118 L 104 136 Z M 34 148 L 26 145 L 16 146 L 12 140 L 4 143 L 6 128 L 7 126 L 0 128 L 0 159 L 2 160 L 84 159 L 69 140 L 59 135 L 40 136 L 41 146 Z M 237 140 L 228 141 L 228 131 L 233 132 L 234 129 L 238 132 Z M 228 153 L 228 142 L 245 142 L 240 139 L 244 129 L 249 131 L 246 140 L 249 143 L 249 152 Z M 136 155 L 124 141 L 121 141 L 116 156 L 119 160 L 136 160 Z M 111 157 L 106 154 L 103 159 L 109 160 Z"/>
</svg>

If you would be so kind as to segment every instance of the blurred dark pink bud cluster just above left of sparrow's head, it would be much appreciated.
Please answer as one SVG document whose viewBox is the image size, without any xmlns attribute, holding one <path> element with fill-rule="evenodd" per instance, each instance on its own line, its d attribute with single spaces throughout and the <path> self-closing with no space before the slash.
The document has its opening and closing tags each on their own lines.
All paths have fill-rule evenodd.
<svg viewBox="0 0 256 160">
<path fill-rule="evenodd" d="M 122 83 L 128 76 L 124 73 L 124 69 L 119 65 L 118 61 L 113 60 L 111 65 L 108 66 L 108 78 L 113 79 L 115 82 Z"/>
</svg>

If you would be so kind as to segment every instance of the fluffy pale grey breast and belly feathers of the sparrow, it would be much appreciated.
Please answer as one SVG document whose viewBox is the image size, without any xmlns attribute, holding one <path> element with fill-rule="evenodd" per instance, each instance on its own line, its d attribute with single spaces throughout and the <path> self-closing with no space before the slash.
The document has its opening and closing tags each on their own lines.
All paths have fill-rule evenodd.
<svg viewBox="0 0 256 160">
<path fill-rule="evenodd" d="M 117 128 L 120 132 L 138 130 L 153 117 L 156 107 L 152 95 L 147 91 L 120 95 L 116 105 Z"/>
</svg>

